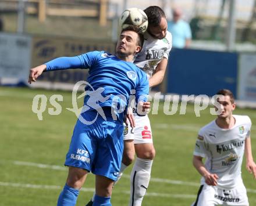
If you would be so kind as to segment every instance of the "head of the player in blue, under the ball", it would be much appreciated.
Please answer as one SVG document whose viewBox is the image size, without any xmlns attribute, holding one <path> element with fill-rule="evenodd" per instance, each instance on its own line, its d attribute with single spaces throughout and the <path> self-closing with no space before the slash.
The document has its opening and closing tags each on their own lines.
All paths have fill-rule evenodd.
<svg viewBox="0 0 256 206">
<path fill-rule="evenodd" d="M 138 38 L 135 31 L 123 31 L 116 45 L 116 53 L 121 56 L 135 55 L 140 51 L 140 46 L 137 45 Z"/>
</svg>

